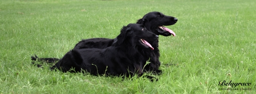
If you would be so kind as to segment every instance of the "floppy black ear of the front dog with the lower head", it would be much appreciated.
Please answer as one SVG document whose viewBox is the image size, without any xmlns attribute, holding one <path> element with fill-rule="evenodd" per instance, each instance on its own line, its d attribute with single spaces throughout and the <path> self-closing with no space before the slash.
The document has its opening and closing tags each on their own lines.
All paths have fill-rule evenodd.
<svg viewBox="0 0 256 94">
<path fill-rule="evenodd" d="M 131 31 L 131 28 L 123 26 L 121 33 L 117 36 L 117 43 L 121 44 L 128 36 L 132 36 L 133 32 Z"/>
</svg>

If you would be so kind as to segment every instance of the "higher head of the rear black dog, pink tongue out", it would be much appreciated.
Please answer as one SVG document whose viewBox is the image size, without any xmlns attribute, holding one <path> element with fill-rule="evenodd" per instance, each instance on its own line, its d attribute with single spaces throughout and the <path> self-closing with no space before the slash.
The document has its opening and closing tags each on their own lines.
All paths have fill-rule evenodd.
<svg viewBox="0 0 256 94">
<path fill-rule="evenodd" d="M 149 31 L 155 33 L 156 35 L 176 36 L 172 30 L 164 26 L 174 25 L 177 21 L 178 19 L 175 17 L 166 16 L 160 12 L 154 11 L 144 15 L 137 21 L 137 24 L 144 25 Z"/>
</svg>

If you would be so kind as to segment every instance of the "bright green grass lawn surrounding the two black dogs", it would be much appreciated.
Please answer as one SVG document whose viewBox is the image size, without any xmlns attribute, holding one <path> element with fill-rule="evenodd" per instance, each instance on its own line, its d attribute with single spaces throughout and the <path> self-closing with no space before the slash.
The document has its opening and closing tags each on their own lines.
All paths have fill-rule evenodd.
<svg viewBox="0 0 256 94">
<path fill-rule="evenodd" d="M 253 94 L 255 0 L 0 0 L 0 93 Z M 150 11 L 178 18 L 159 38 L 163 75 L 122 80 L 50 71 L 30 56 L 61 58 L 81 39 L 115 38 Z M 173 64 L 164 66 L 164 64 Z M 227 74 L 231 73 L 231 76 Z M 218 90 L 219 81 L 252 83 Z M 230 87 L 229 87 L 230 88 Z"/>
</svg>

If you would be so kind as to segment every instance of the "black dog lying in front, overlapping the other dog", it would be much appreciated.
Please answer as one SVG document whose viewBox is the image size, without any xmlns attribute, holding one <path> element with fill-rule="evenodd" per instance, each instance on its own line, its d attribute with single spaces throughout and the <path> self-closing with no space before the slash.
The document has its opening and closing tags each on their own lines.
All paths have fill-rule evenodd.
<svg viewBox="0 0 256 94">
<path fill-rule="evenodd" d="M 134 76 L 134 73 L 141 76 L 144 56 L 139 52 L 138 47 L 153 49 L 149 43 L 158 40 L 158 36 L 149 32 L 141 24 L 128 24 L 123 26 L 116 39 L 114 44 L 105 49 L 73 49 L 51 69 L 56 68 L 62 72 L 85 70 L 95 76 L 125 75 L 129 77 L 130 75 Z M 149 76 L 149 78 L 151 77 Z"/>
</svg>

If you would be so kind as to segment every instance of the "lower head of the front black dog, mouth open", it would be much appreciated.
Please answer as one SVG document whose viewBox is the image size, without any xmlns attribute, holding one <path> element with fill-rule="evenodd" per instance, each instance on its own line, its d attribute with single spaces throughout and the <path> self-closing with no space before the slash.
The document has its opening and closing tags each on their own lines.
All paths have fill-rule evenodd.
<svg viewBox="0 0 256 94">
<path fill-rule="evenodd" d="M 125 44 L 154 49 L 150 43 L 153 43 L 157 39 L 158 36 L 148 31 L 144 25 L 128 24 L 127 26 L 123 26 L 121 29 L 121 33 L 117 36 L 117 43 L 120 45 L 126 41 Z"/>
</svg>

